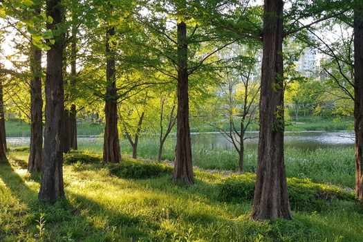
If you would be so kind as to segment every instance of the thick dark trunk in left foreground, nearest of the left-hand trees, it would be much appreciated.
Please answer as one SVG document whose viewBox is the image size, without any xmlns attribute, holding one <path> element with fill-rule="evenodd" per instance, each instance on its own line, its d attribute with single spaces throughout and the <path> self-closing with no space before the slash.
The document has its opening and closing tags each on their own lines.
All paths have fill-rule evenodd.
<svg viewBox="0 0 363 242">
<path fill-rule="evenodd" d="M 47 0 L 46 13 L 53 18 L 48 28 L 55 29 L 63 21 L 60 0 Z M 46 67 L 46 124 L 44 129 L 44 163 L 39 200 L 53 203 L 64 198 L 62 122 L 64 112 L 63 83 L 64 35 L 55 37 L 47 52 Z"/>
</svg>

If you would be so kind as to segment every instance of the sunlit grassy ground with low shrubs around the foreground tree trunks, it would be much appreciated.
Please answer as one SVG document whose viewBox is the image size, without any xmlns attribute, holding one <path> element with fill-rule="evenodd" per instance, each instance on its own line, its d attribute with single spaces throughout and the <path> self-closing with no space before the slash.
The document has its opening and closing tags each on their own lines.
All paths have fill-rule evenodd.
<svg viewBox="0 0 363 242">
<path fill-rule="evenodd" d="M 66 199 L 37 201 L 28 152 L 0 165 L 0 241 L 362 241 L 363 208 L 347 189 L 289 178 L 292 221 L 250 219 L 254 174 L 195 169 L 191 187 L 171 183 L 171 166 L 100 155 L 65 155 Z M 321 171 L 316 171 L 321 172 Z M 338 181 L 336 183 L 339 183 Z M 342 186 L 343 187 L 343 186 Z"/>
</svg>

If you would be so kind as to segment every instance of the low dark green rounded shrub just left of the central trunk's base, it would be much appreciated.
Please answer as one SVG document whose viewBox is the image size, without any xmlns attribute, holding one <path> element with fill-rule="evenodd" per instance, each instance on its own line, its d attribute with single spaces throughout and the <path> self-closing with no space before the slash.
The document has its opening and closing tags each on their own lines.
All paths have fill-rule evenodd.
<svg viewBox="0 0 363 242">
<path fill-rule="evenodd" d="M 109 165 L 110 173 L 122 178 L 151 178 L 171 174 L 172 167 L 151 162 L 124 161 L 121 164 Z"/>
</svg>

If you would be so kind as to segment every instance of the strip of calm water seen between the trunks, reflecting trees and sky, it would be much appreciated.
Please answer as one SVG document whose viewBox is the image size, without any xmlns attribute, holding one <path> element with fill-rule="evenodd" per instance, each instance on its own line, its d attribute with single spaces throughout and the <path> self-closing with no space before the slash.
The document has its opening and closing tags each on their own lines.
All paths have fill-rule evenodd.
<svg viewBox="0 0 363 242">
<path fill-rule="evenodd" d="M 255 148 L 258 143 L 258 133 L 246 133 L 246 148 Z M 202 149 L 233 149 L 221 133 L 192 133 L 192 145 Z M 170 136 L 171 140 L 175 136 Z M 29 137 L 11 137 L 6 139 L 10 147 L 29 145 Z M 78 142 L 83 145 L 102 145 L 100 137 L 79 137 Z M 353 132 L 317 132 L 307 131 L 299 133 L 285 133 L 286 147 L 297 149 L 319 149 L 328 147 L 348 147 L 354 144 Z"/>
</svg>

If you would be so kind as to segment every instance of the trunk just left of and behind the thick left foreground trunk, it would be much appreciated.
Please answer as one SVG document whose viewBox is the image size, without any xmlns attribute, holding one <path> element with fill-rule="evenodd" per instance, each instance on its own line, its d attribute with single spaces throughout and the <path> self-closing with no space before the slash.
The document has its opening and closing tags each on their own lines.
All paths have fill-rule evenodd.
<svg viewBox="0 0 363 242">
<path fill-rule="evenodd" d="M 40 11 L 37 11 L 40 12 Z M 41 171 L 43 162 L 43 98 L 41 97 L 41 50 L 31 44 L 30 68 L 30 154 L 28 171 Z"/>
</svg>

